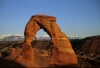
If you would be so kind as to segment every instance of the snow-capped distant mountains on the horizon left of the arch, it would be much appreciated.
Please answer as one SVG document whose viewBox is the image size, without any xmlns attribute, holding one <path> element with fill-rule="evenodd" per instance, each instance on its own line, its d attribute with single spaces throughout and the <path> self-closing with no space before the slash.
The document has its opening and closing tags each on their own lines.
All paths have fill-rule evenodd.
<svg viewBox="0 0 100 68">
<path fill-rule="evenodd" d="M 23 41 L 24 37 L 20 34 L 2 35 L 0 41 Z"/>
</svg>

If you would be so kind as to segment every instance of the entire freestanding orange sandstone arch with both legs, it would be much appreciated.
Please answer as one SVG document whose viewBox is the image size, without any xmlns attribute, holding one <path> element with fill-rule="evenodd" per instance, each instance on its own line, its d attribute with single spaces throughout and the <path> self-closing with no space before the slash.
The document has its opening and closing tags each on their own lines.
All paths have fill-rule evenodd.
<svg viewBox="0 0 100 68">
<path fill-rule="evenodd" d="M 53 48 L 50 57 L 50 65 L 77 64 L 77 57 L 67 36 L 56 24 L 56 17 L 47 15 L 34 15 L 27 23 L 24 32 L 25 40 L 22 46 L 21 57 L 16 59 L 18 62 L 21 60 L 23 65 L 26 65 L 25 62 L 28 61 L 34 63 L 34 50 L 32 50 L 30 44 L 40 29 L 46 31 L 51 37 L 51 45 Z"/>
</svg>

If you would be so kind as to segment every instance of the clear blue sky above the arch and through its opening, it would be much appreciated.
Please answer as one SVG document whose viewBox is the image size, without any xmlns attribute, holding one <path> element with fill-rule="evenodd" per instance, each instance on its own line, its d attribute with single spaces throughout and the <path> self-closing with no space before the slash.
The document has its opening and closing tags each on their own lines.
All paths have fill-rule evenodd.
<svg viewBox="0 0 100 68">
<path fill-rule="evenodd" d="M 67 36 L 100 35 L 100 0 L 0 0 L 0 35 L 23 35 L 36 14 L 55 16 Z M 45 34 L 43 30 L 37 33 Z"/>
</svg>

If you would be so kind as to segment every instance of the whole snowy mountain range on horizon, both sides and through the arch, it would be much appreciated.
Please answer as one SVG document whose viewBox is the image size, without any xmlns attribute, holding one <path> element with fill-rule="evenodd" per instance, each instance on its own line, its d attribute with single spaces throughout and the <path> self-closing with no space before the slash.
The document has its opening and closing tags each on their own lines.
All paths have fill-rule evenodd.
<svg viewBox="0 0 100 68">
<path fill-rule="evenodd" d="M 51 40 L 49 35 L 43 35 L 43 36 L 35 36 L 33 38 L 34 40 Z M 75 39 L 81 39 L 80 37 L 76 36 L 70 36 L 68 37 L 69 40 L 75 40 Z M 20 34 L 7 34 L 7 35 L 2 35 L 0 37 L 0 41 L 23 41 L 24 36 Z"/>
</svg>

